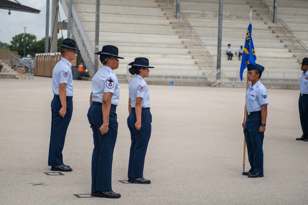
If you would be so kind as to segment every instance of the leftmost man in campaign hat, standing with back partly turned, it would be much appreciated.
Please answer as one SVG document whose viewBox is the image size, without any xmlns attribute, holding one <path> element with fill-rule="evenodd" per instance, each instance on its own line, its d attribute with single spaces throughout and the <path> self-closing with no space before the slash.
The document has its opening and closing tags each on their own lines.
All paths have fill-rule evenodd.
<svg viewBox="0 0 308 205">
<path fill-rule="evenodd" d="M 52 72 L 51 132 L 49 143 L 48 166 L 51 171 L 72 171 L 63 164 L 62 150 L 68 125 L 73 112 L 73 75 L 71 61 L 76 57 L 76 42 L 66 38 L 60 45 L 61 60 Z"/>
</svg>

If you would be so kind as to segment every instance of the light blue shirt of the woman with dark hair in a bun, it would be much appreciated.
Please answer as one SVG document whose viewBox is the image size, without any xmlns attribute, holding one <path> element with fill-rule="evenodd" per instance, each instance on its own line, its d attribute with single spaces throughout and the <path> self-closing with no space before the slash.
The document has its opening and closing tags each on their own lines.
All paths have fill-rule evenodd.
<svg viewBox="0 0 308 205">
<path fill-rule="evenodd" d="M 135 108 L 136 97 L 142 97 L 142 107 L 150 107 L 150 93 L 147 83 L 140 75 L 136 75 L 128 85 L 128 98 L 131 99 L 131 106 Z"/>
</svg>

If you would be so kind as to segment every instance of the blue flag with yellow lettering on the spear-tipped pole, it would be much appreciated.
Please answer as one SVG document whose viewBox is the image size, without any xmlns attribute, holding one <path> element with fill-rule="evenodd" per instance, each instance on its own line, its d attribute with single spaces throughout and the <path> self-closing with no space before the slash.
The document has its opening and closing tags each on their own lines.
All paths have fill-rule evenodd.
<svg viewBox="0 0 308 205">
<path fill-rule="evenodd" d="M 248 62 L 251 63 L 252 65 L 256 65 L 256 60 L 257 60 L 257 56 L 254 50 L 253 41 L 251 37 L 251 30 L 252 30 L 252 25 L 250 23 L 246 33 L 244 52 L 241 61 L 241 68 L 240 68 L 241 81 L 243 80 L 243 72 L 244 69 L 247 67 Z"/>
</svg>

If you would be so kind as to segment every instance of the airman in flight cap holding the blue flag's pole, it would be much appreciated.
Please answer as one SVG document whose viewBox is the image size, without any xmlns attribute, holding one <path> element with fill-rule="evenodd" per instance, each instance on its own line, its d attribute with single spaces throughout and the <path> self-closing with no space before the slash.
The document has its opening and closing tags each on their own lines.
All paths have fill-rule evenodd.
<svg viewBox="0 0 308 205">
<path fill-rule="evenodd" d="M 268 92 L 260 82 L 264 67 L 247 65 L 247 79 L 251 82 L 246 92 L 247 119 L 243 129 L 247 146 L 250 170 L 243 172 L 251 178 L 263 177 L 263 139 L 267 117 Z"/>
</svg>

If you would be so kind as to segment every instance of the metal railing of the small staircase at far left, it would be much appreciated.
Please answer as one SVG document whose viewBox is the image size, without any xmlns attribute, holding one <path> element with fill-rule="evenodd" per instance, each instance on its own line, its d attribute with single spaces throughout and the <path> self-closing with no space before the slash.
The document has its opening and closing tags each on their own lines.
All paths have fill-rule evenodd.
<svg viewBox="0 0 308 205">
<path fill-rule="evenodd" d="M 33 65 L 29 65 L 28 63 L 22 61 L 15 53 L 4 48 L 2 45 L 0 45 L 0 59 L 27 79 L 33 80 Z"/>
</svg>

